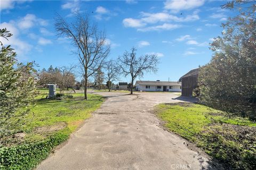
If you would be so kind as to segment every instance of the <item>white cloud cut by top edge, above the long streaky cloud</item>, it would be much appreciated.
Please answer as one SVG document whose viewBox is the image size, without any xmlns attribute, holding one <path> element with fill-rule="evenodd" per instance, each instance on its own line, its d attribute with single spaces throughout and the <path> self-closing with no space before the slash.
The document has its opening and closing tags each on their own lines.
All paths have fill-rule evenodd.
<svg viewBox="0 0 256 170">
<path fill-rule="evenodd" d="M 204 0 L 174 0 L 164 2 L 164 8 L 172 12 L 179 12 L 181 10 L 191 10 L 193 8 L 202 6 Z"/>
</svg>

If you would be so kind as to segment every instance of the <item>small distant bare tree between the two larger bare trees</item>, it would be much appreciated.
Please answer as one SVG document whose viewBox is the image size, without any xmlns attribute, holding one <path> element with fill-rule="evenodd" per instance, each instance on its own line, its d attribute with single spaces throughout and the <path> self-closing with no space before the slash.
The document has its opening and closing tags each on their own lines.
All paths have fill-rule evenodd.
<svg viewBox="0 0 256 170">
<path fill-rule="evenodd" d="M 113 60 L 110 60 L 107 62 L 106 72 L 107 72 L 106 73 L 107 87 L 108 87 L 108 91 L 110 91 L 112 82 L 118 80 L 118 72 L 119 72 L 119 68 Z"/>
</svg>

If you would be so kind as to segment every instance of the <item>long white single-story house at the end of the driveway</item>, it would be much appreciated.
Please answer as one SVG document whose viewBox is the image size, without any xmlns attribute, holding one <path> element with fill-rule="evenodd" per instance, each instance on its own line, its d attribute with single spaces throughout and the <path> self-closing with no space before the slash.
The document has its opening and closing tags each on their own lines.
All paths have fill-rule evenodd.
<svg viewBox="0 0 256 170">
<path fill-rule="evenodd" d="M 136 81 L 138 91 L 181 91 L 181 82 L 177 81 Z"/>
</svg>

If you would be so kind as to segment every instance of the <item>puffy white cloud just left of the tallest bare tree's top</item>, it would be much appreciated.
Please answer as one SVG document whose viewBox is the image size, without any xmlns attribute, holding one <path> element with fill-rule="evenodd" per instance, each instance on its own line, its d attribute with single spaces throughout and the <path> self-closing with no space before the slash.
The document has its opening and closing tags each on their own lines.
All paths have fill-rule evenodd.
<svg viewBox="0 0 256 170">
<path fill-rule="evenodd" d="M 48 22 L 44 19 L 37 18 L 34 14 L 27 14 L 18 21 L 18 27 L 20 29 L 29 29 L 31 27 L 34 27 L 35 24 L 45 26 L 48 24 Z"/>
</svg>

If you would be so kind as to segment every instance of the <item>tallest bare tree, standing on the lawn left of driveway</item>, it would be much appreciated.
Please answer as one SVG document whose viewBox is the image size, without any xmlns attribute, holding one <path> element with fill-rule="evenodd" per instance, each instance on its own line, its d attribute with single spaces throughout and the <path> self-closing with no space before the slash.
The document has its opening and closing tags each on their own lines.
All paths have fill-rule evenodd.
<svg viewBox="0 0 256 170">
<path fill-rule="evenodd" d="M 105 31 L 90 22 L 88 15 L 75 13 L 75 20 L 68 23 L 59 14 L 55 18 L 55 28 L 59 36 L 69 38 L 77 48 L 79 63 L 83 67 L 84 99 L 87 99 L 87 82 L 91 75 L 105 63 L 110 47 L 106 43 Z"/>
</svg>

